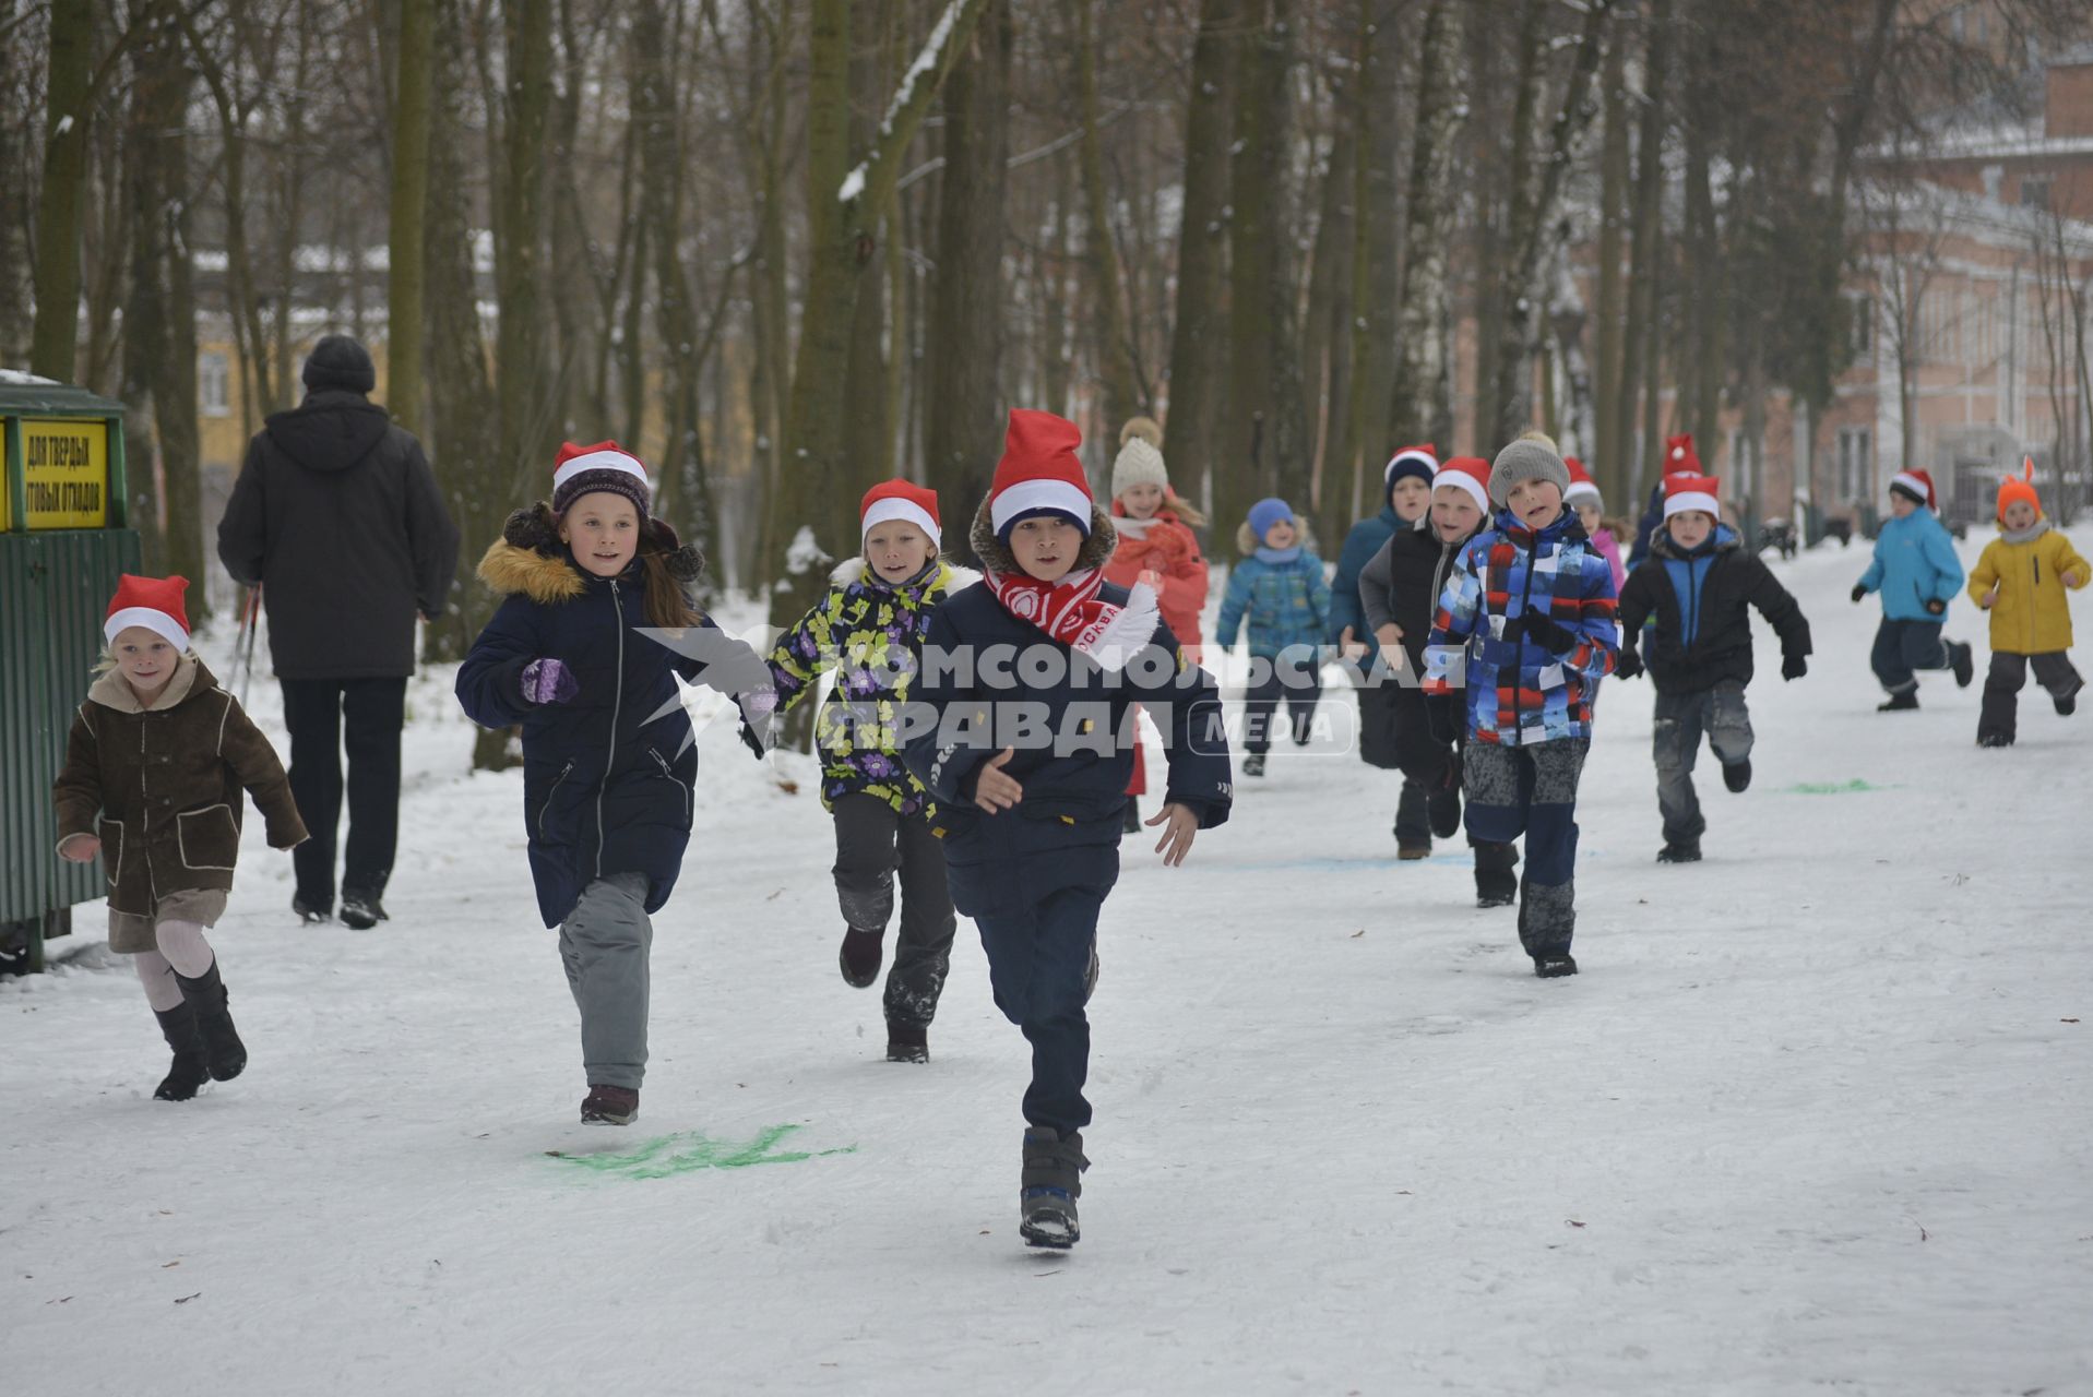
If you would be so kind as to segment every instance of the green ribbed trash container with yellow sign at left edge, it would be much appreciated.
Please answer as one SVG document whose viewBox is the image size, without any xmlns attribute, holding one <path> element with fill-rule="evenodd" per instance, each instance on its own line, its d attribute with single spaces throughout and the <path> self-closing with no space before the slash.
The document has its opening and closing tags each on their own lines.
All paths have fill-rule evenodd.
<svg viewBox="0 0 2093 1397">
<path fill-rule="evenodd" d="M 0 972 L 44 968 L 71 908 L 107 895 L 103 866 L 57 853 L 50 782 L 100 657 L 128 529 L 123 404 L 0 374 Z"/>
</svg>

